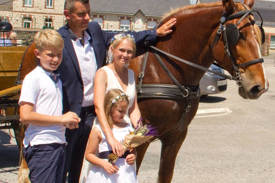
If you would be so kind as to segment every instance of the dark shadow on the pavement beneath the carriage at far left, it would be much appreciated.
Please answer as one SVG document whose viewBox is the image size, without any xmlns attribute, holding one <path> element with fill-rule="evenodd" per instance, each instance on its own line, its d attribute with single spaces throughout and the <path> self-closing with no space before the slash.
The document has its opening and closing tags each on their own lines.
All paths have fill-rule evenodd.
<svg viewBox="0 0 275 183">
<path fill-rule="evenodd" d="M 17 145 L 11 144 L 10 141 L 11 136 L 0 130 L 0 173 L 10 171 L 1 170 L 1 168 L 15 168 L 19 164 L 19 148 Z"/>
</svg>

